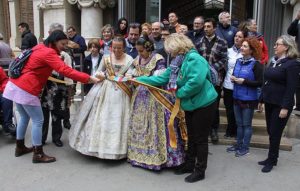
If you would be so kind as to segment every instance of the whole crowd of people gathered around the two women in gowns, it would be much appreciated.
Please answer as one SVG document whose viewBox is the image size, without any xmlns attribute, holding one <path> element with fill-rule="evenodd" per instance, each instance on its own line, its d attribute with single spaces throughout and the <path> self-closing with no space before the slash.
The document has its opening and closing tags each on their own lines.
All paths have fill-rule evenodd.
<svg viewBox="0 0 300 191">
<path fill-rule="evenodd" d="M 298 35 L 299 20 L 300 13 L 288 30 L 291 35 Z M 106 24 L 101 37 L 87 45 L 73 26 L 65 34 L 61 24 L 51 24 L 49 37 L 38 45 L 26 23 L 19 29 L 21 49 L 33 53 L 19 78 L 8 80 L 0 70 L 5 132 L 12 125 L 12 101 L 20 113 L 16 157 L 33 151 L 34 163 L 56 160 L 43 152 L 51 115 L 52 142 L 58 147 L 63 146 L 64 126 L 70 129 L 70 146 L 84 155 L 127 158 L 150 170 L 176 167 L 175 174 L 190 173 L 185 181 L 196 182 L 205 178 L 209 137 L 213 144 L 219 141 L 223 97 L 224 137 L 236 138 L 226 151 L 236 157 L 249 154 L 253 114 L 265 109 L 270 147 L 267 159 L 258 164 L 265 173 L 277 165 L 299 87 L 299 53 L 292 37 L 278 37 L 268 64 L 268 48 L 255 20 L 236 28 L 225 11 L 218 23 L 195 17 L 190 31 L 175 12 L 163 22 L 141 25 L 120 18 L 116 28 Z M 69 107 L 76 81 L 69 78 L 85 83 L 85 99 L 73 121 Z M 30 119 L 33 147 L 26 147 Z"/>
</svg>

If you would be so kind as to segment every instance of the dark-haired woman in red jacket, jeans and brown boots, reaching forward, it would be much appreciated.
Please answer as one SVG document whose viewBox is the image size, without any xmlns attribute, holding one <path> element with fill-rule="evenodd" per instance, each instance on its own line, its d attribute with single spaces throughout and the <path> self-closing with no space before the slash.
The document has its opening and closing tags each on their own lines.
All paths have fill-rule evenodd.
<svg viewBox="0 0 300 191">
<path fill-rule="evenodd" d="M 44 44 L 39 44 L 32 49 L 33 52 L 22 70 L 22 75 L 19 78 L 11 78 L 6 85 L 3 97 L 15 102 L 20 114 L 17 126 L 16 157 L 33 151 L 33 163 L 49 163 L 56 160 L 55 157 L 47 156 L 43 152 L 44 117 L 39 99 L 39 94 L 53 70 L 82 83 L 99 81 L 97 78 L 70 68 L 61 60 L 59 53 L 64 50 L 67 43 L 68 38 L 64 32 L 60 30 L 52 32 Z M 24 145 L 30 119 L 32 120 L 33 148 L 27 148 Z"/>
</svg>

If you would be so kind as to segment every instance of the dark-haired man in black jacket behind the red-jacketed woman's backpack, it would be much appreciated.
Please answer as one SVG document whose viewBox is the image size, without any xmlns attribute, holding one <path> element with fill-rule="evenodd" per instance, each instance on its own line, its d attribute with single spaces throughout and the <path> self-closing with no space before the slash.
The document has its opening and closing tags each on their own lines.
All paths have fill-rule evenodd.
<svg viewBox="0 0 300 191">
<path fill-rule="evenodd" d="M 30 49 L 37 45 L 37 39 L 29 30 L 29 25 L 27 23 L 20 23 L 18 29 L 22 34 L 21 50 Z"/>
</svg>

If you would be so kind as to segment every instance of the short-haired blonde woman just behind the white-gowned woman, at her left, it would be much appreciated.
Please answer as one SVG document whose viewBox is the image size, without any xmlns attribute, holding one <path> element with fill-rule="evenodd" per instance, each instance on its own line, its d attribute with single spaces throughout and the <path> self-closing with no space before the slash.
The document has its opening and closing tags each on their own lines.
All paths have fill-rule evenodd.
<svg viewBox="0 0 300 191">
<path fill-rule="evenodd" d="M 104 25 L 101 29 L 101 40 L 99 41 L 101 49 L 100 52 L 103 55 L 109 55 L 111 53 L 111 44 L 114 37 L 114 29 L 110 24 Z"/>
</svg>

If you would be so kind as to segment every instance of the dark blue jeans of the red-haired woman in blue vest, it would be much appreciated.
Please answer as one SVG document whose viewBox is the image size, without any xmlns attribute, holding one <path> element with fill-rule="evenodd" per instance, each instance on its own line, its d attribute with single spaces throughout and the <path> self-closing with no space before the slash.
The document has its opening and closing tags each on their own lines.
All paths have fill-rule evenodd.
<svg viewBox="0 0 300 191">
<path fill-rule="evenodd" d="M 239 105 L 234 105 L 234 116 L 237 125 L 237 144 L 244 149 L 249 149 L 252 136 L 252 118 L 254 109 L 241 108 Z"/>
</svg>

